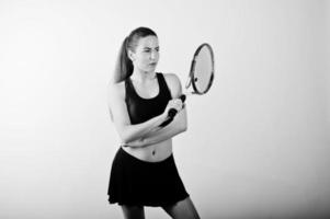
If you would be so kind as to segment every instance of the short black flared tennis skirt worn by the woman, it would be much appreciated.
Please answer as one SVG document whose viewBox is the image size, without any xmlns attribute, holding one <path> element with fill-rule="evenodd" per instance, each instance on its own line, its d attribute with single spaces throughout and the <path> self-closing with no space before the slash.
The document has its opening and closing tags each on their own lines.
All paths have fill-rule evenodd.
<svg viewBox="0 0 330 219">
<path fill-rule="evenodd" d="M 137 159 L 120 148 L 112 163 L 109 203 L 129 206 L 168 206 L 189 197 L 173 154 L 160 162 Z"/>
</svg>

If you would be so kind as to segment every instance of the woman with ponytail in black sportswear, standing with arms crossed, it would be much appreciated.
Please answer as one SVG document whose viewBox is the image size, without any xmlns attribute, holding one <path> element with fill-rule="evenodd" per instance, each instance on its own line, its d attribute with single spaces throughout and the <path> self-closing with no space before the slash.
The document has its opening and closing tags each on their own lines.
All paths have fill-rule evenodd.
<svg viewBox="0 0 330 219">
<path fill-rule="evenodd" d="M 200 218 L 178 173 L 172 137 L 186 130 L 186 110 L 175 74 L 155 71 L 159 60 L 156 33 L 134 30 L 123 42 L 109 106 L 123 141 L 112 163 L 109 201 L 125 218 L 145 218 L 144 206 L 160 206 L 172 218 Z M 167 126 L 170 108 L 178 111 Z"/>
</svg>

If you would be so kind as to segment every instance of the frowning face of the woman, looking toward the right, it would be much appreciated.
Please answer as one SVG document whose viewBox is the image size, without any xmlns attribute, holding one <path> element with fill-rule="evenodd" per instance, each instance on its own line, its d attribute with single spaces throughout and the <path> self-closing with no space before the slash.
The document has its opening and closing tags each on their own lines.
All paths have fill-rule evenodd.
<svg viewBox="0 0 330 219">
<path fill-rule="evenodd" d="M 152 72 L 159 60 L 159 44 L 157 36 L 146 36 L 138 39 L 135 51 L 129 50 L 128 56 L 134 68 L 145 72 Z"/>
</svg>

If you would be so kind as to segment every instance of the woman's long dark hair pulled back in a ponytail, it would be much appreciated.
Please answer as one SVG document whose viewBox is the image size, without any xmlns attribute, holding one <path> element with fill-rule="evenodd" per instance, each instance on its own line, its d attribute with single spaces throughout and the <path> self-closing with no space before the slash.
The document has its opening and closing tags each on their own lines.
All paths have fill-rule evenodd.
<svg viewBox="0 0 330 219">
<path fill-rule="evenodd" d="M 135 28 L 127 37 L 125 37 L 115 65 L 113 77 L 114 83 L 118 83 L 132 76 L 134 67 L 132 60 L 128 58 L 128 50 L 135 51 L 138 39 L 146 36 L 157 36 L 157 34 L 151 28 L 141 26 Z"/>
</svg>

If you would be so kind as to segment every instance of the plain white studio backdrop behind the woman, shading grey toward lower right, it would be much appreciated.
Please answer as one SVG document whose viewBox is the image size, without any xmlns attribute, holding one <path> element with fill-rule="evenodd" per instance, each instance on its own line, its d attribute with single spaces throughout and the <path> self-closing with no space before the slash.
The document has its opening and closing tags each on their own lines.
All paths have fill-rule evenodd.
<svg viewBox="0 0 330 219">
<path fill-rule="evenodd" d="M 330 205 L 329 1 L 0 1 L 0 218 L 121 218 L 106 84 L 124 37 L 153 28 L 182 83 L 215 83 L 174 138 L 202 218 L 317 218 Z M 147 208 L 147 218 L 168 218 Z"/>
</svg>

